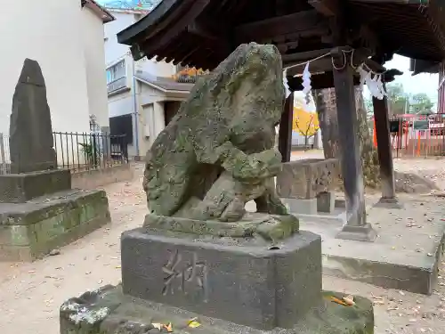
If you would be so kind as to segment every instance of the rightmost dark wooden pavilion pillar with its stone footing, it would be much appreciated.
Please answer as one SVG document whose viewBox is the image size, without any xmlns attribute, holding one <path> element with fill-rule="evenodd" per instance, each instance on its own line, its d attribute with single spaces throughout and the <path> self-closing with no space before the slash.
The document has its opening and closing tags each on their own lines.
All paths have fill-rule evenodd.
<svg viewBox="0 0 445 334">
<path fill-rule="evenodd" d="M 383 100 L 378 100 L 373 97 L 372 104 L 374 106 L 377 152 L 382 184 L 382 198 L 378 201 L 376 206 L 401 208 L 395 195 L 394 167 L 392 165 L 392 147 L 388 119 L 388 100 L 386 97 L 384 97 Z"/>
</svg>

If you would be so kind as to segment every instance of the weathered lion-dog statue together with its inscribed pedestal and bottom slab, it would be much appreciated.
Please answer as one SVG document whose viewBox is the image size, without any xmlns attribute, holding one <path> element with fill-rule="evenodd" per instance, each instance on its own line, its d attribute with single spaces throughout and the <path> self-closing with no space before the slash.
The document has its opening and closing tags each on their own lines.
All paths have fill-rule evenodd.
<svg viewBox="0 0 445 334">
<path fill-rule="evenodd" d="M 374 332 L 367 299 L 322 291 L 320 236 L 276 195 L 283 102 L 273 45 L 198 80 L 147 153 L 150 213 L 122 235 L 122 284 L 61 305 L 61 334 Z"/>
</svg>

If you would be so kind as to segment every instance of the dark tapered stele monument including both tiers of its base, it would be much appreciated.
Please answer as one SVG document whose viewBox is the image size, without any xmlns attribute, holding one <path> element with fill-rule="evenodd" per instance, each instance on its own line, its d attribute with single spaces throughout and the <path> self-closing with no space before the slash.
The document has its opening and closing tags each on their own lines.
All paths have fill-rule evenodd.
<svg viewBox="0 0 445 334">
<path fill-rule="evenodd" d="M 104 191 L 57 169 L 44 76 L 26 59 L 12 98 L 11 174 L 0 175 L 0 260 L 34 260 L 109 222 Z"/>
</svg>

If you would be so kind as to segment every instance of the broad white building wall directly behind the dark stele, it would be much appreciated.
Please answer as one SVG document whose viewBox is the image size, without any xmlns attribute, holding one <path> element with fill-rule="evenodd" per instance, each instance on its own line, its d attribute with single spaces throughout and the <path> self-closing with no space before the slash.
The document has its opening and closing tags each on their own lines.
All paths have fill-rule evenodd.
<svg viewBox="0 0 445 334">
<path fill-rule="evenodd" d="M 88 131 L 88 90 L 79 0 L 21 0 L 0 11 L 0 133 L 9 133 L 12 94 L 25 58 L 39 62 L 54 131 Z"/>
</svg>

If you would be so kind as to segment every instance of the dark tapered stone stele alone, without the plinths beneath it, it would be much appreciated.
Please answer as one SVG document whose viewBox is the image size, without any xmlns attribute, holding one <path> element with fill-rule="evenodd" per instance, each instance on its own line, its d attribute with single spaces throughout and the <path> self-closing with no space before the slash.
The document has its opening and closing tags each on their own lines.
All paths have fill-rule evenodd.
<svg viewBox="0 0 445 334">
<path fill-rule="evenodd" d="M 51 112 L 46 86 L 37 61 L 26 59 L 12 98 L 9 127 L 11 172 L 55 169 Z"/>
</svg>

